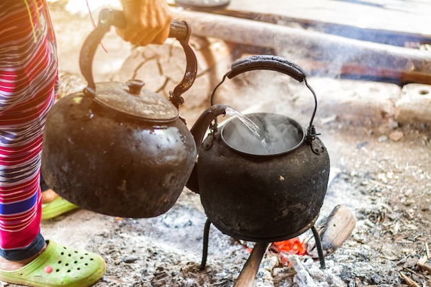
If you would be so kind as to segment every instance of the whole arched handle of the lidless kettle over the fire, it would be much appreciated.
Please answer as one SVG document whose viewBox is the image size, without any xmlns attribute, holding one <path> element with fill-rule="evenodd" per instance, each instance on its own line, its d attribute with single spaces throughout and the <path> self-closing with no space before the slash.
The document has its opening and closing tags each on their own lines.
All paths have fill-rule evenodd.
<svg viewBox="0 0 431 287">
<path fill-rule="evenodd" d="M 242 74 L 244 72 L 252 71 L 252 70 L 272 70 L 276 72 L 281 72 L 283 74 L 286 74 L 288 76 L 291 76 L 299 83 L 304 82 L 306 87 L 310 89 L 311 93 L 314 96 L 315 100 L 315 107 L 313 110 L 313 114 L 311 115 L 310 125 L 307 129 L 307 135 L 306 139 L 311 141 L 314 140 L 317 136 L 315 127 L 313 125 L 313 120 L 317 111 L 317 97 L 316 94 L 310 85 L 308 85 L 306 80 L 306 72 L 302 70 L 302 67 L 299 67 L 299 65 L 296 65 L 295 63 L 288 61 L 280 56 L 273 56 L 273 55 L 257 55 L 257 56 L 249 56 L 244 59 L 237 60 L 232 63 L 231 70 L 227 72 L 227 74 L 224 74 L 222 81 L 218 83 L 217 86 L 213 89 L 213 92 L 211 93 L 211 105 L 214 105 L 214 94 L 215 90 L 222 85 L 224 80 L 226 78 L 233 78 L 234 76 L 238 76 L 239 74 Z M 215 122 L 215 125 L 217 125 L 217 122 Z"/>
</svg>

